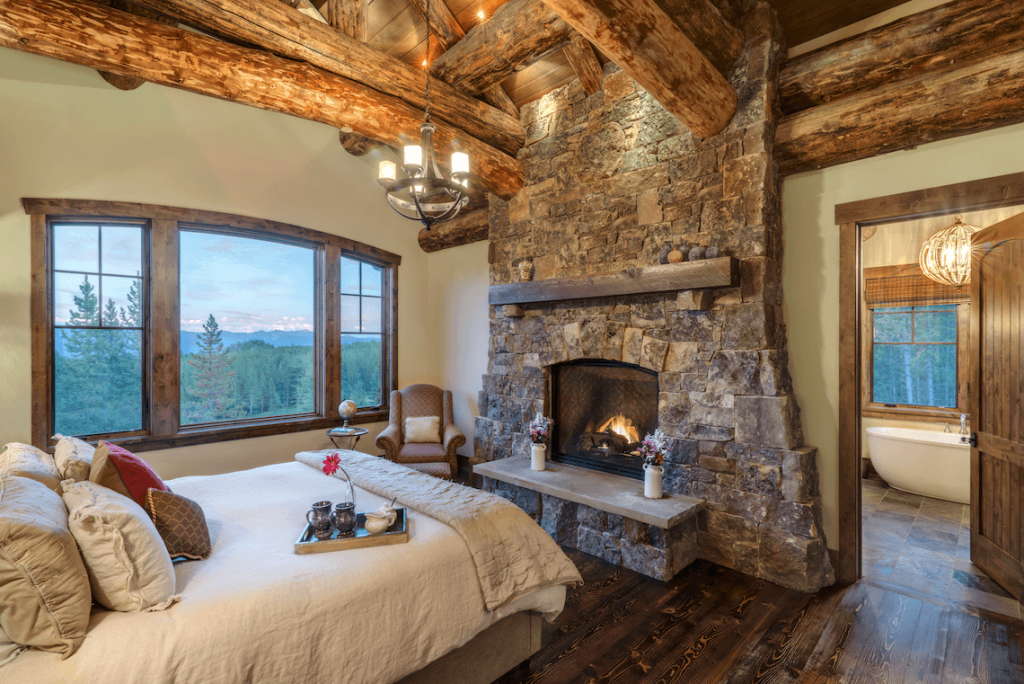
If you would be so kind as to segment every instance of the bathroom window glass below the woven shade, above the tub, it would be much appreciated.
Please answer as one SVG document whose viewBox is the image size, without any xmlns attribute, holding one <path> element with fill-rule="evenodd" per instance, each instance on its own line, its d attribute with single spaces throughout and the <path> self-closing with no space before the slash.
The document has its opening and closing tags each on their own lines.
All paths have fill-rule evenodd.
<svg viewBox="0 0 1024 684">
<path fill-rule="evenodd" d="M 956 408 L 956 304 L 872 311 L 872 401 Z"/>
</svg>

